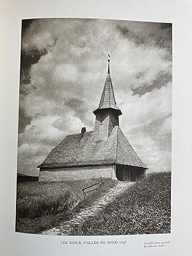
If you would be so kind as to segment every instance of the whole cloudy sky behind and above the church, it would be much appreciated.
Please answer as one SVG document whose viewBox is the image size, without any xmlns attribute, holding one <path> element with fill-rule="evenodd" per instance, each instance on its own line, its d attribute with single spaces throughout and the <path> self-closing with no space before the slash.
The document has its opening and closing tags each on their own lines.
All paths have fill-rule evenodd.
<svg viewBox="0 0 192 256">
<path fill-rule="evenodd" d="M 172 24 L 101 19 L 22 20 L 18 172 L 68 134 L 92 131 L 108 72 L 120 128 L 149 172 L 171 170 Z"/>
</svg>

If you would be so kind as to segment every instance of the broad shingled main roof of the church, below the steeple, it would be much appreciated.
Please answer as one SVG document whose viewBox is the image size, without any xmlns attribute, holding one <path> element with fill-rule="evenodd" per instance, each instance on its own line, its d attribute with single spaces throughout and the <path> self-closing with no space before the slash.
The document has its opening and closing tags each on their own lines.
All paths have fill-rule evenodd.
<svg viewBox="0 0 192 256">
<path fill-rule="evenodd" d="M 108 140 L 99 140 L 95 131 L 66 136 L 38 168 L 102 164 L 147 168 L 118 125 L 113 128 Z"/>
</svg>

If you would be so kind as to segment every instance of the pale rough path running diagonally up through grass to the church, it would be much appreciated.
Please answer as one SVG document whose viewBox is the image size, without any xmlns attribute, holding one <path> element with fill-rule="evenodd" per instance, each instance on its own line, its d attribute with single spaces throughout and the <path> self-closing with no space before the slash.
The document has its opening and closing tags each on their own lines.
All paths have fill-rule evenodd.
<svg viewBox="0 0 192 256">
<path fill-rule="evenodd" d="M 50 236 L 69 235 L 72 228 L 78 225 L 82 225 L 88 217 L 93 216 L 98 212 L 102 211 L 102 209 L 104 209 L 106 205 L 111 203 L 117 195 L 124 192 L 124 190 L 131 186 L 133 183 L 134 182 L 119 182 L 114 188 L 109 190 L 109 192 L 106 195 L 102 196 L 102 198 L 94 202 L 93 205 L 82 209 L 82 211 L 74 215 L 71 220 L 63 222 L 59 227 L 54 227 L 49 230 L 45 230 L 40 234 Z"/>
</svg>

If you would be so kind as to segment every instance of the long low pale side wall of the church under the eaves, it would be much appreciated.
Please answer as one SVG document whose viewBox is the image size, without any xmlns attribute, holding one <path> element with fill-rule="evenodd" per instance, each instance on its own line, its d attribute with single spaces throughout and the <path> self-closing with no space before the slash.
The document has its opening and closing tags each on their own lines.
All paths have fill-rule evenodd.
<svg viewBox="0 0 192 256">
<path fill-rule="evenodd" d="M 114 165 L 79 166 L 68 168 L 40 168 L 39 182 L 82 180 L 92 178 L 116 179 Z"/>
</svg>

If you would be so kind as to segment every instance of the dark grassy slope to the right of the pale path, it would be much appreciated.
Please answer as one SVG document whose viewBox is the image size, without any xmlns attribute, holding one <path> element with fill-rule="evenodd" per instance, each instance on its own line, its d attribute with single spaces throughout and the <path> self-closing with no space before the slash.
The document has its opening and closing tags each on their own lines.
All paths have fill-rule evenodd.
<svg viewBox="0 0 192 256">
<path fill-rule="evenodd" d="M 151 173 L 71 235 L 163 234 L 170 233 L 170 224 L 171 173 Z"/>
</svg>

